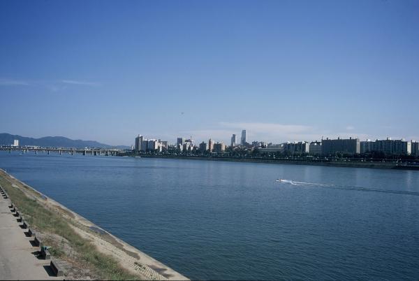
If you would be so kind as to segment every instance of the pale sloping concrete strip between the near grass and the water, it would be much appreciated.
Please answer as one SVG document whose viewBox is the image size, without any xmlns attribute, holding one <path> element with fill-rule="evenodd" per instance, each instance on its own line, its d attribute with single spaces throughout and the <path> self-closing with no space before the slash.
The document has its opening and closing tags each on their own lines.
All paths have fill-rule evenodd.
<svg viewBox="0 0 419 281">
<path fill-rule="evenodd" d="M 145 280 L 189 280 L 184 275 L 177 273 L 177 271 L 129 245 L 124 240 L 113 236 L 112 233 L 105 231 L 61 203 L 41 194 L 41 192 L 1 168 L 0 178 L 10 183 L 8 189 L 19 189 L 27 198 L 36 201 L 43 208 L 58 213 L 82 239 L 94 245 L 98 252 L 115 259 L 119 266 L 129 273 L 137 275 L 138 278 Z M 11 199 L 13 200 L 13 198 Z M 22 208 L 22 206 L 17 207 Z M 25 215 L 31 216 L 33 214 Z"/>
</svg>

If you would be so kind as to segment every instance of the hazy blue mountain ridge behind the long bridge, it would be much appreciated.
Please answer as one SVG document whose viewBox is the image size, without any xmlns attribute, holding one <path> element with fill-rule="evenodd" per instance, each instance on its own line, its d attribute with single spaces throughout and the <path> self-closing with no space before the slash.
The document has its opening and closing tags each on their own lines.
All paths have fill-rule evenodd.
<svg viewBox="0 0 419 281">
<path fill-rule="evenodd" d="M 64 136 L 45 136 L 43 138 L 27 138 L 25 136 L 0 134 L 0 145 L 12 145 L 14 140 L 19 140 L 19 145 L 36 145 L 42 147 L 101 147 L 101 148 L 119 148 L 128 149 L 130 147 L 125 145 L 105 145 L 104 143 L 98 143 L 97 141 L 82 141 L 82 140 L 71 140 Z"/>
</svg>

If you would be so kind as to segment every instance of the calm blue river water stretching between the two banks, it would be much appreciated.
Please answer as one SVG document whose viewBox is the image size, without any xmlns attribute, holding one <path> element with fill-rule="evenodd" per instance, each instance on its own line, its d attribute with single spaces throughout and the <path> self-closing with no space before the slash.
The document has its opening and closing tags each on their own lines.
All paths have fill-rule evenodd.
<svg viewBox="0 0 419 281">
<path fill-rule="evenodd" d="M 419 171 L 31 152 L 0 167 L 189 278 L 419 278 Z"/>
</svg>

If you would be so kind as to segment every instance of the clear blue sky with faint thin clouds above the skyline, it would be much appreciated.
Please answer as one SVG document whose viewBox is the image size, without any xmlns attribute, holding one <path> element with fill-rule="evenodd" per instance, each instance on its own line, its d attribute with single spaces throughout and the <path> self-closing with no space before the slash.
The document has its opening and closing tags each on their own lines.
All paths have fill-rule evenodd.
<svg viewBox="0 0 419 281">
<path fill-rule="evenodd" d="M 0 1 L 0 131 L 419 139 L 419 1 Z"/>
</svg>

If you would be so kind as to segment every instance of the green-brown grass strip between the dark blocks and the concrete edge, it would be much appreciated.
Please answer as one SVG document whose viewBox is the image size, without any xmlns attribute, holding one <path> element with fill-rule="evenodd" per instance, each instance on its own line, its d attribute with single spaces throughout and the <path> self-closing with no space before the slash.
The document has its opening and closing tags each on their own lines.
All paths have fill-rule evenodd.
<svg viewBox="0 0 419 281">
<path fill-rule="evenodd" d="M 104 280 L 138 280 L 139 277 L 131 275 L 119 266 L 115 259 L 96 250 L 88 240 L 85 240 L 71 228 L 66 219 L 59 213 L 52 212 L 41 206 L 36 199 L 28 198 L 20 189 L 12 187 L 10 182 L 0 175 L 0 184 L 10 196 L 10 200 L 24 214 L 27 222 L 42 233 L 54 233 L 66 238 L 71 247 L 78 252 L 78 258 L 89 268 L 94 268 L 100 279 Z M 45 241 L 47 242 L 47 241 Z M 53 245 L 54 246 L 54 245 Z M 52 247 L 52 255 L 63 257 L 65 254 L 59 250 L 58 245 Z"/>
</svg>

